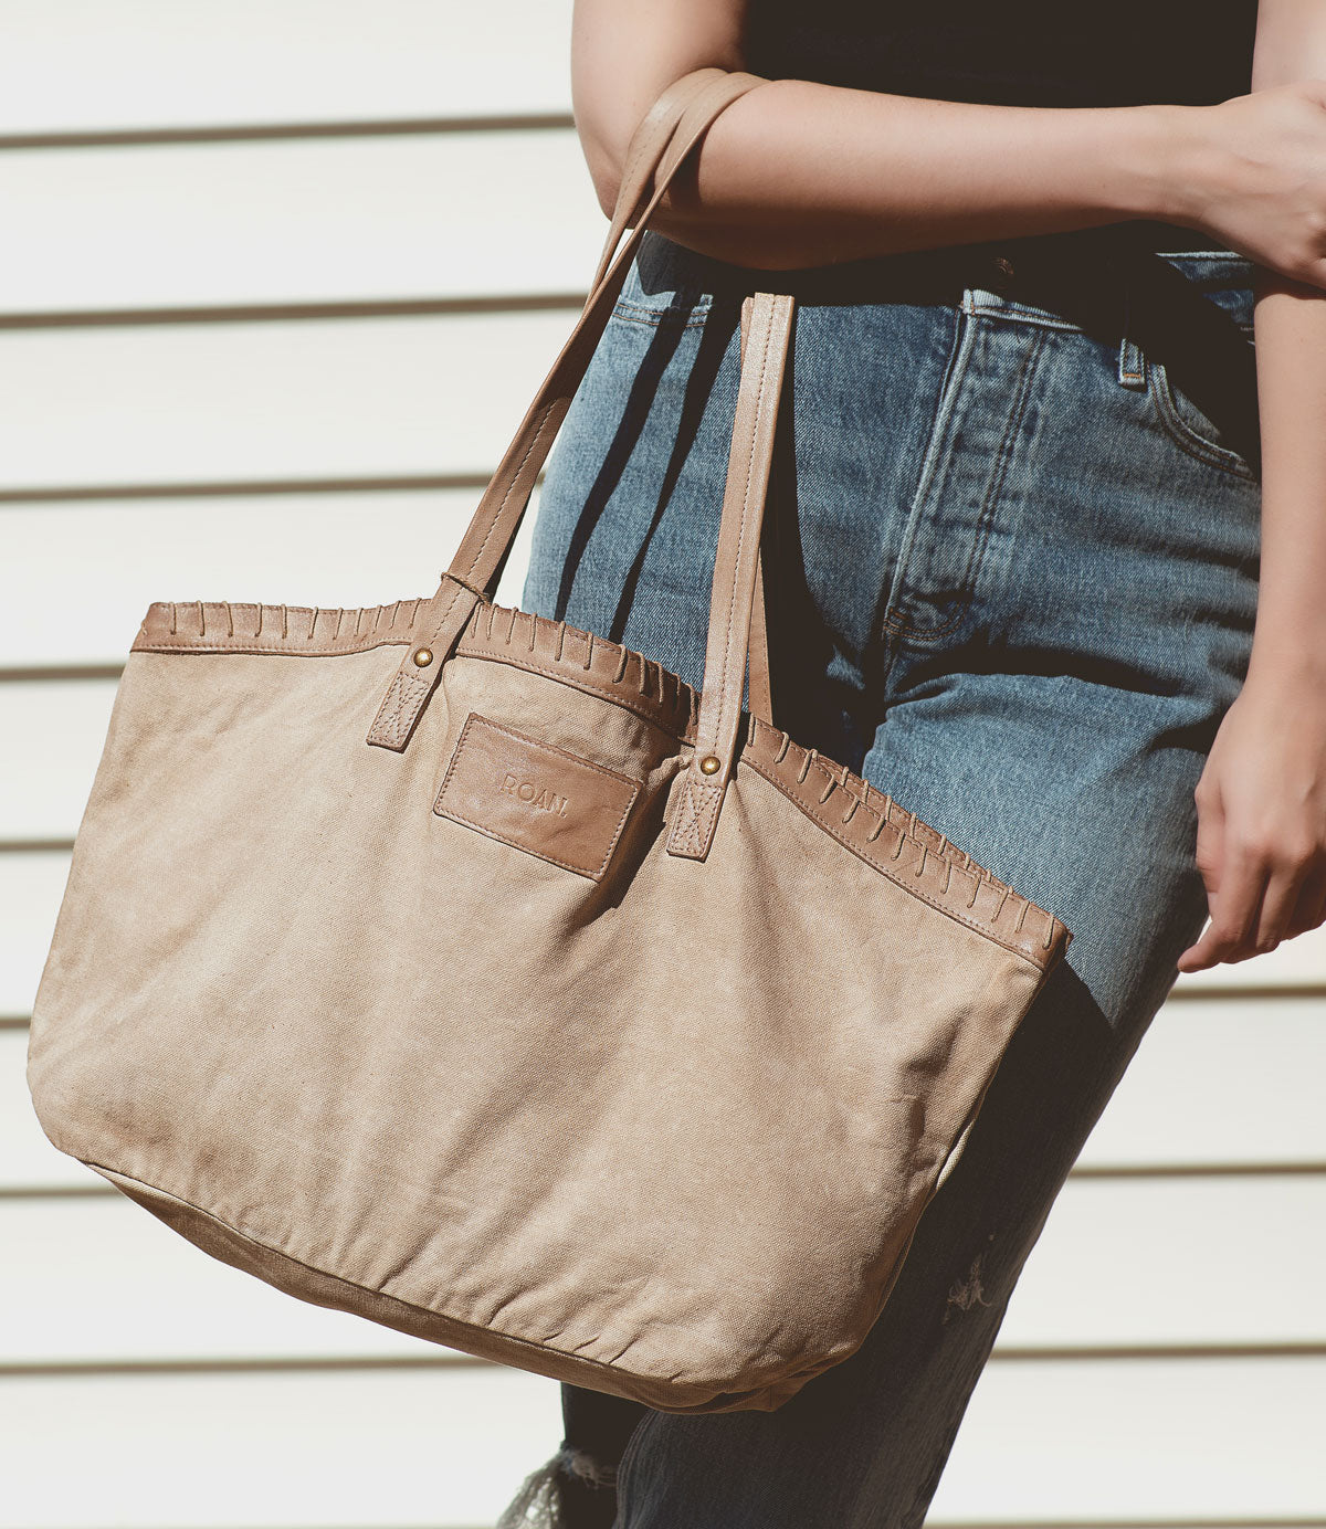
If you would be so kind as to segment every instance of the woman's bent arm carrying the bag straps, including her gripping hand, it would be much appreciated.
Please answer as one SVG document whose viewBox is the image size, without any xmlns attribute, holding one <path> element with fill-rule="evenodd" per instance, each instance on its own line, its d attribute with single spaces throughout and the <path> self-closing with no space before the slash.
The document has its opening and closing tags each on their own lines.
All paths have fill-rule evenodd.
<svg viewBox="0 0 1326 1529">
<path fill-rule="evenodd" d="M 705 64 L 743 67 L 745 8 L 575 0 L 572 104 L 604 213 L 659 92 Z M 1326 84 L 1320 95 L 1060 109 L 774 80 L 717 118 L 652 226 L 722 260 L 789 269 L 1147 217 L 1231 228 L 1253 258 L 1326 286 Z M 1240 179 L 1266 159 L 1305 182 L 1315 242 L 1265 176 Z"/>
</svg>

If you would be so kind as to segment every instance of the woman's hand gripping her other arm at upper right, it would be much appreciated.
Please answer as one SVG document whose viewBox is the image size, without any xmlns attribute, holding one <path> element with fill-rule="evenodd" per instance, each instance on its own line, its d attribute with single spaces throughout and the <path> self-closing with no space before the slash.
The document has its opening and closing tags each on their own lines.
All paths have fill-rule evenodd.
<svg viewBox="0 0 1326 1529">
<path fill-rule="evenodd" d="M 1326 80 L 1178 113 L 1175 220 L 1292 281 L 1326 287 Z"/>
</svg>

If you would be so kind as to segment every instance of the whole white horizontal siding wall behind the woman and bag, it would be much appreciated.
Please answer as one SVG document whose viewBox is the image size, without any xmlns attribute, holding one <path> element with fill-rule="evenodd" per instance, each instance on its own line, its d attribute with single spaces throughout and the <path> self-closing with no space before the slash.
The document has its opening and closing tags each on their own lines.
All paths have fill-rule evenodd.
<svg viewBox="0 0 1326 1529">
<path fill-rule="evenodd" d="M 480 1529 L 557 1445 L 554 1382 L 280 1295 L 57 1153 L 23 1066 L 148 601 L 428 593 L 566 338 L 604 232 L 569 9 L 0 0 L 5 1529 Z M 1175 989 L 931 1523 L 1326 1524 L 1323 998 L 1321 934 Z"/>
</svg>

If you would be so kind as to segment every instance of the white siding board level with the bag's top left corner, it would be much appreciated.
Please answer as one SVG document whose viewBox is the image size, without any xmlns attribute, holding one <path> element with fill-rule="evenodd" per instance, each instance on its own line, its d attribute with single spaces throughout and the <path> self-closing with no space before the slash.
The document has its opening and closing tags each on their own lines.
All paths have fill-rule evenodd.
<svg viewBox="0 0 1326 1529">
<path fill-rule="evenodd" d="M 480 495 L 476 486 L 0 509 L 0 676 L 122 664 L 154 599 L 355 609 L 431 595 Z M 497 589 L 502 604 L 520 602 L 537 511 L 538 488 Z M 0 771 L 11 764 L 26 768 L 3 760 Z"/>
</svg>

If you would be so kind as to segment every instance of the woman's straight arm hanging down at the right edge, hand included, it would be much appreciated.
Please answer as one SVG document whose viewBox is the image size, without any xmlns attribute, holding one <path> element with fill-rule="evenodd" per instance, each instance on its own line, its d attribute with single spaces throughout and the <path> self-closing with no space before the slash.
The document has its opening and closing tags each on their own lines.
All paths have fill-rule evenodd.
<svg viewBox="0 0 1326 1529">
<path fill-rule="evenodd" d="M 1326 78 L 1320 0 L 1262 0 L 1254 90 Z M 1262 569 L 1253 659 L 1198 786 L 1211 922 L 1181 971 L 1326 919 L 1326 294 L 1257 272 Z"/>
</svg>

